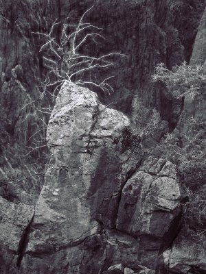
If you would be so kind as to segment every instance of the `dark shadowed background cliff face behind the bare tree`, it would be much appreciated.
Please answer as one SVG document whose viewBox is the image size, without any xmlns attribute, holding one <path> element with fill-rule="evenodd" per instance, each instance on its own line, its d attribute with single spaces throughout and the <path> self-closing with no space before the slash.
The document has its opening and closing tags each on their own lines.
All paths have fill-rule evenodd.
<svg viewBox="0 0 206 274">
<path fill-rule="evenodd" d="M 56 18 L 62 21 L 67 17 L 74 21 L 73 18 L 77 18 L 74 22 L 77 23 L 82 13 L 93 6 L 87 21 L 102 28 L 105 40 L 101 40 L 98 47 L 93 47 L 91 41 L 82 50 L 95 52 L 97 56 L 113 51 L 127 56 L 113 60 L 108 76 L 115 76 L 111 78 L 111 85 L 116 92 L 111 97 L 99 93 L 102 101 L 135 116 L 139 100 L 146 108 L 157 108 L 171 128 L 176 125 L 181 103 L 166 97 L 161 88 L 154 88 L 150 75 L 158 62 L 172 67 L 184 58 L 190 60 L 204 0 L 121 0 L 118 4 L 93 0 L 1 0 L 0 4 L 0 163 L 3 171 L 0 192 L 3 197 L 34 205 L 43 186 L 43 176 L 38 175 L 44 173 L 47 159 L 39 160 L 41 163 L 37 166 L 35 159 L 42 159 L 44 153 L 48 153 L 43 140 L 54 100 L 48 94 L 42 97 L 42 82 L 48 69 L 39 53 L 45 41 L 36 33 L 49 32 Z M 95 77 L 102 74 L 104 77 L 104 71 L 97 72 Z M 20 155 L 19 158 L 16 155 Z M 5 157 L 14 169 L 12 176 Z M 16 182 L 22 177 L 27 179 L 18 184 L 16 195 Z"/>
</svg>

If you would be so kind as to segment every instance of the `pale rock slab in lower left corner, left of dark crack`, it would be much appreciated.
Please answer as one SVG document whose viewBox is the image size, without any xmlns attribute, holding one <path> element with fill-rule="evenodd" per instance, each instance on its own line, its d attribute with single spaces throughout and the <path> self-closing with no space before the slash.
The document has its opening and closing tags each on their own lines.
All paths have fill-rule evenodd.
<svg viewBox="0 0 206 274">
<path fill-rule="evenodd" d="M 34 207 L 23 203 L 16 205 L 3 198 L 0 199 L 0 206 L 0 271 L 6 273 L 12 265 L 16 269 L 16 264 L 21 261 Z"/>
</svg>

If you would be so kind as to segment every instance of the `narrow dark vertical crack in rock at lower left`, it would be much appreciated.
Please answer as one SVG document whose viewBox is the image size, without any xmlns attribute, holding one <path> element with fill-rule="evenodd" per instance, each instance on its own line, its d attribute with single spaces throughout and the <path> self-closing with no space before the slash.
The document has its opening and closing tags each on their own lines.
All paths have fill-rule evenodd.
<svg viewBox="0 0 206 274">
<path fill-rule="evenodd" d="M 32 219 L 30 220 L 30 223 L 25 227 L 21 234 L 21 239 L 19 241 L 19 247 L 17 249 L 17 260 L 16 260 L 16 266 L 19 268 L 21 266 L 21 261 L 23 260 L 23 256 L 25 254 L 25 249 L 27 247 L 27 244 L 29 242 L 29 235 L 30 235 L 30 227 L 32 225 L 32 221 L 34 220 L 35 215 L 35 208 L 34 208 L 34 214 L 32 216 Z"/>
</svg>

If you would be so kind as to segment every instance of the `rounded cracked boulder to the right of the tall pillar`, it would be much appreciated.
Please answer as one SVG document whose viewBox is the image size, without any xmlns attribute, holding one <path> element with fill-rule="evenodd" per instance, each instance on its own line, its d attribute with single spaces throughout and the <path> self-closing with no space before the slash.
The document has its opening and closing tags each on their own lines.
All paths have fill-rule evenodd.
<svg viewBox="0 0 206 274">
<path fill-rule="evenodd" d="M 181 192 L 171 162 L 149 158 L 139 170 L 122 190 L 117 229 L 139 238 L 139 263 L 154 269 L 160 247 L 167 245 L 163 238 L 181 213 Z"/>
</svg>

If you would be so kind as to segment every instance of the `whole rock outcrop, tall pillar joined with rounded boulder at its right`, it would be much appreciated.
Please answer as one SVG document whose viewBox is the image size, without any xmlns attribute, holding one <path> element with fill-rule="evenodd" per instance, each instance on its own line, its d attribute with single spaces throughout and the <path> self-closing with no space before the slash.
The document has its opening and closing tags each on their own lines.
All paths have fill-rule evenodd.
<svg viewBox="0 0 206 274">
<path fill-rule="evenodd" d="M 52 160 L 18 273 L 155 271 L 174 239 L 181 193 L 172 163 L 142 162 L 125 149 L 129 129 L 94 92 L 62 86 L 47 130 Z"/>
</svg>

